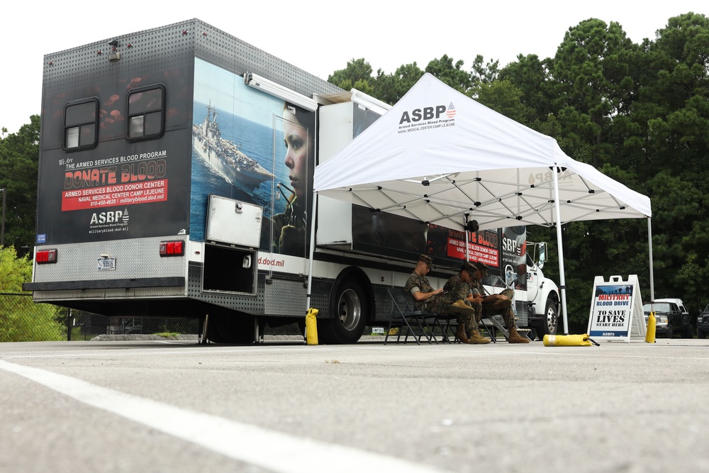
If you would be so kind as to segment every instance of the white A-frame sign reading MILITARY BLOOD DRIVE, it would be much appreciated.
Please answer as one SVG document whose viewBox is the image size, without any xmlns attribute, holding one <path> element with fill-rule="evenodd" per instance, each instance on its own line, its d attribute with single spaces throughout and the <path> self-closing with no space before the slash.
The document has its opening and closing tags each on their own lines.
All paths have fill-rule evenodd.
<svg viewBox="0 0 709 473">
<path fill-rule="evenodd" d="M 603 276 L 596 276 L 588 316 L 588 336 L 593 340 L 629 343 L 631 335 L 645 338 L 645 318 L 637 276 L 630 274 L 627 281 L 620 276 L 611 276 L 608 282 Z"/>
</svg>

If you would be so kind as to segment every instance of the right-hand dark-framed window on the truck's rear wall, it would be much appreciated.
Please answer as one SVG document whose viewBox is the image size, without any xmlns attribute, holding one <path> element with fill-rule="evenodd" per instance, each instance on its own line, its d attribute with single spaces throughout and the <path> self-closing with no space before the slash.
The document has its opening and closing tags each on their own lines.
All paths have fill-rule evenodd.
<svg viewBox="0 0 709 473">
<path fill-rule="evenodd" d="M 128 141 L 160 138 L 165 130 L 165 88 L 162 84 L 128 92 Z"/>
</svg>

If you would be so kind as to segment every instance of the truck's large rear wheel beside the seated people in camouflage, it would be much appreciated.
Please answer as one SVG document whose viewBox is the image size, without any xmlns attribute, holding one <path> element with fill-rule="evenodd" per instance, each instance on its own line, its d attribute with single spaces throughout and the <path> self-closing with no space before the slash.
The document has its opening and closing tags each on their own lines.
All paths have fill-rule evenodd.
<svg viewBox="0 0 709 473">
<path fill-rule="evenodd" d="M 356 343 L 367 323 L 367 295 L 362 285 L 347 279 L 330 299 L 330 318 L 318 318 L 318 338 L 333 345 Z"/>
</svg>

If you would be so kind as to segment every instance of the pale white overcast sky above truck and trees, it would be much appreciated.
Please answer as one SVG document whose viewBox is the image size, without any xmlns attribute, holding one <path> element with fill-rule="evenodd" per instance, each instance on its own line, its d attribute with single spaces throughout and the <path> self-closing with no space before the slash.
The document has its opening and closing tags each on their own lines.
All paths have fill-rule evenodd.
<svg viewBox="0 0 709 473">
<path fill-rule="evenodd" d="M 655 38 L 667 20 L 688 11 L 709 16 L 706 0 L 437 1 L 401 4 L 333 1 L 96 2 L 77 0 L 39 13 L 40 4 L 13 1 L 0 10 L 0 128 L 15 133 L 40 113 L 43 57 L 113 36 L 191 18 L 224 30 L 323 79 L 364 57 L 376 72 L 447 54 L 469 70 L 476 55 L 552 57 L 564 33 L 588 18 L 617 21 L 634 43 Z M 179 6 L 177 6 L 179 5 Z M 416 6 L 415 6 L 416 5 Z M 420 5 L 420 6 L 418 6 Z"/>
</svg>

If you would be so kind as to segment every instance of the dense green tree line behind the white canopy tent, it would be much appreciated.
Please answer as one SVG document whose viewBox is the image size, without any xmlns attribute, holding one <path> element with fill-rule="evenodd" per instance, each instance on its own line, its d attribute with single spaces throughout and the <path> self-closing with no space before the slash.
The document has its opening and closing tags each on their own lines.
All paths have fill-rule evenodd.
<svg viewBox="0 0 709 473">
<path fill-rule="evenodd" d="M 373 74 L 362 58 L 328 79 L 394 104 L 424 72 L 556 138 L 567 155 L 649 196 L 654 296 L 681 297 L 692 313 L 709 302 L 701 283 L 709 275 L 706 16 L 669 18 L 641 44 L 618 23 L 591 18 L 569 28 L 554 57 L 519 55 L 505 67 L 477 55 L 467 69 L 444 55 L 425 69 L 414 62 Z M 554 229 L 528 230 L 533 240 L 556 244 Z M 579 328 L 588 321 L 596 275 L 637 274 L 649 300 L 647 221 L 569 223 L 563 234 L 569 320 Z"/>
</svg>

